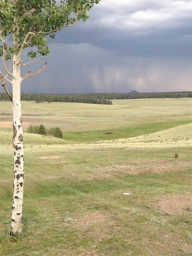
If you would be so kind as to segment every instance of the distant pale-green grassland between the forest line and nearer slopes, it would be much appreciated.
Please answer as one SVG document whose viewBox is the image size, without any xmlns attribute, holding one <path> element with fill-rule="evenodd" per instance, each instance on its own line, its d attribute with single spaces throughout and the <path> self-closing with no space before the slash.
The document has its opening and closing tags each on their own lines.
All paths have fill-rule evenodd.
<svg viewBox="0 0 192 256">
<path fill-rule="evenodd" d="M 65 140 L 89 142 L 163 131 L 192 122 L 191 98 L 113 100 L 113 105 L 22 101 L 23 129 L 59 126 Z M 12 131 L 10 102 L 0 102 L 0 131 Z M 3 113 L 3 115 L 2 115 Z M 111 134 L 106 134 L 110 131 Z"/>
</svg>

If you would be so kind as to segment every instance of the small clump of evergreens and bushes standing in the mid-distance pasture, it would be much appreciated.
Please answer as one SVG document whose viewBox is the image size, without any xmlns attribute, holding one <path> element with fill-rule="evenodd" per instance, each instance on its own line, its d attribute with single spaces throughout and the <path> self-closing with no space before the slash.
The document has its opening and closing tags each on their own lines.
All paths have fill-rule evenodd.
<svg viewBox="0 0 192 256">
<path fill-rule="evenodd" d="M 51 127 L 49 129 L 46 129 L 44 125 L 30 125 L 27 128 L 27 133 L 36 133 L 36 134 L 41 134 L 41 135 L 52 135 L 54 137 L 62 139 L 63 134 L 61 129 L 56 126 L 56 127 Z"/>
</svg>

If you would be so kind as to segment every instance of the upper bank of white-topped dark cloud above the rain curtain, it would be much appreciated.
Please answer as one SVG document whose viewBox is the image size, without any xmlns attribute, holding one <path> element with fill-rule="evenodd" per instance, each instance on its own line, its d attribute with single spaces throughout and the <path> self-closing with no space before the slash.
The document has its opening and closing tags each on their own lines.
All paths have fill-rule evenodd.
<svg viewBox="0 0 192 256">
<path fill-rule="evenodd" d="M 156 57 L 191 54 L 191 2 L 101 0 L 90 18 L 57 39 L 89 43 L 122 56 Z"/>
</svg>

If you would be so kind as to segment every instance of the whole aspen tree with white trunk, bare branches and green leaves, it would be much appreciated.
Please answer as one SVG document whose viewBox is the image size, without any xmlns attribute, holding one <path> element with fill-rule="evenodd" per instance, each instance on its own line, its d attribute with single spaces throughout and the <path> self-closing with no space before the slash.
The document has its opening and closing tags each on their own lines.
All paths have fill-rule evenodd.
<svg viewBox="0 0 192 256">
<path fill-rule="evenodd" d="M 22 236 L 23 206 L 23 130 L 21 115 L 21 82 L 27 77 L 39 74 L 47 65 L 44 63 L 35 73 L 30 71 L 21 76 L 21 68 L 34 63 L 50 53 L 46 36 L 55 38 L 55 33 L 66 27 L 74 26 L 80 20 L 85 22 L 89 9 L 100 0 L 1 0 L 0 1 L 0 66 L 1 86 L 10 98 L 13 108 L 13 204 L 10 236 Z M 35 48 L 35 50 L 34 50 Z M 28 57 L 41 58 L 22 64 L 21 53 Z M 26 51 L 27 50 L 27 51 Z M 7 65 L 8 63 L 8 65 Z M 8 82 L 13 88 L 13 97 L 7 90 Z"/>
</svg>

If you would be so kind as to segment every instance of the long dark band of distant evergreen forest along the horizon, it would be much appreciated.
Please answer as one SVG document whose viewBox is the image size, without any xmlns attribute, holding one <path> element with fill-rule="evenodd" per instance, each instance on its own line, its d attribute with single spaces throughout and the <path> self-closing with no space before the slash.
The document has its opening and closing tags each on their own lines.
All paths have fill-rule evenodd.
<svg viewBox="0 0 192 256">
<path fill-rule="evenodd" d="M 22 101 L 36 101 L 37 103 L 75 102 L 90 104 L 112 105 L 111 100 L 146 99 L 146 98 L 192 98 L 192 92 L 137 92 L 137 93 L 87 93 L 87 94 L 21 94 Z M 9 101 L 6 93 L 0 93 L 0 101 Z"/>
</svg>

